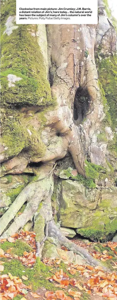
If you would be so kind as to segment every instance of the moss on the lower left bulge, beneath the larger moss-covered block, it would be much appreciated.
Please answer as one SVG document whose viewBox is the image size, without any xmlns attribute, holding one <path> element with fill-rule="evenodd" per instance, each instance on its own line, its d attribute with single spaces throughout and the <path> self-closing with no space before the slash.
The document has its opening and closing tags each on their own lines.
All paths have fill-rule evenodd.
<svg viewBox="0 0 117 300">
<path fill-rule="evenodd" d="M 40 131 L 34 129 L 29 122 L 25 123 L 16 110 L 8 109 L 7 113 L 4 111 L 1 123 L 3 124 L 1 143 L 7 146 L 9 156 L 17 155 L 23 148 L 27 148 L 30 156 L 37 152 L 40 157 L 45 154 L 46 146 L 41 141 Z"/>
</svg>

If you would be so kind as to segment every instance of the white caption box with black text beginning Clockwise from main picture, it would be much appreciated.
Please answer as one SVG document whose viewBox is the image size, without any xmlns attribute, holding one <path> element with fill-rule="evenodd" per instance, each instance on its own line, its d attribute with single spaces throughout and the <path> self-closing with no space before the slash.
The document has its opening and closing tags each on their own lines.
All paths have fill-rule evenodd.
<svg viewBox="0 0 117 300">
<path fill-rule="evenodd" d="M 16 24 L 97 24 L 97 0 L 16 0 Z"/>
</svg>

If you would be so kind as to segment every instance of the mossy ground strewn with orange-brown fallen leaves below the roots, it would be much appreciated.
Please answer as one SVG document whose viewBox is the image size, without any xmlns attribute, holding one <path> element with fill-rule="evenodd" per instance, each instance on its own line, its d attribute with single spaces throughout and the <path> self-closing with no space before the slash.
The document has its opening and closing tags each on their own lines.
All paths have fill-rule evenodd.
<svg viewBox="0 0 117 300">
<path fill-rule="evenodd" d="M 117 243 L 72 241 L 87 249 L 102 266 L 74 265 L 68 263 L 66 255 L 41 261 L 35 255 L 33 231 L 20 231 L 1 240 L 1 299 L 117 300 Z"/>
</svg>

